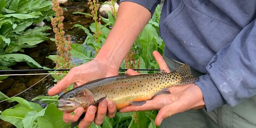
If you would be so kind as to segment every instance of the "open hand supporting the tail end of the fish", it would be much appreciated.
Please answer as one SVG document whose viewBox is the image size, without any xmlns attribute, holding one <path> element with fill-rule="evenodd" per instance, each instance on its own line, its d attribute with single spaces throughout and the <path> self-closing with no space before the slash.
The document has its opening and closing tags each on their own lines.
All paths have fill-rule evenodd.
<svg viewBox="0 0 256 128">
<path fill-rule="evenodd" d="M 158 52 L 153 52 L 156 61 L 159 64 L 160 70 L 170 70 L 164 62 L 162 56 Z M 129 75 L 136 75 L 137 72 L 128 70 Z M 170 94 L 161 94 L 154 97 L 152 100 L 147 100 L 142 106 L 127 106 L 119 110 L 119 112 L 133 112 L 144 110 L 160 110 L 156 116 L 155 123 L 160 126 L 162 120 L 179 112 L 184 112 L 190 109 L 204 108 L 205 103 L 200 88 L 195 84 L 183 86 L 172 86 L 169 88 Z"/>
</svg>

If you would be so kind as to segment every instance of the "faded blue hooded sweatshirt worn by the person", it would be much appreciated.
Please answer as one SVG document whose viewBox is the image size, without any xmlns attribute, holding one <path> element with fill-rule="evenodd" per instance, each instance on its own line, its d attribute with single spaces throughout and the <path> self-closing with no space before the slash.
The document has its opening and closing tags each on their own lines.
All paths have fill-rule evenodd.
<svg viewBox="0 0 256 128">
<path fill-rule="evenodd" d="M 131 1 L 151 14 L 160 0 Z M 206 73 L 195 82 L 206 110 L 235 106 L 256 94 L 256 0 L 165 0 L 164 54 Z"/>
</svg>

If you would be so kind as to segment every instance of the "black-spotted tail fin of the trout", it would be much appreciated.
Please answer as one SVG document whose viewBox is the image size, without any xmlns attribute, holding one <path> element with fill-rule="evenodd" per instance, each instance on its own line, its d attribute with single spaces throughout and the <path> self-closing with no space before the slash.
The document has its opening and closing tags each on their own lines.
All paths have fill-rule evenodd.
<svg viewBox="0 0 256 128">
<path fill-rule="evenodd" d="M 198 80 L 197 77 L 191 74 L 190 66 L 188 64 L 182 64 L 179 68 L 174 70 L 174 72 L 177 72 L 181 75 L 181 85 L 190 84 Z"/>
</svg>

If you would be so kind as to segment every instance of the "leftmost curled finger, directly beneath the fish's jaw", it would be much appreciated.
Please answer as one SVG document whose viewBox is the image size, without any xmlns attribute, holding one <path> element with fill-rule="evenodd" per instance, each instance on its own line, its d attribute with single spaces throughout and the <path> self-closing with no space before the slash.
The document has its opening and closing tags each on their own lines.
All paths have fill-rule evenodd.
<svg viewBox="0 0 256 128">
<path fill-rule="evenodd" d="M 84 108 L 76 108 L 76 110 L 74 110 L 74 113 L 75 114 L 72 115 L 71 113 L 64 112 L 63 121 L 65 123 L 76 122 L 79 119 L 79 117 L 84 113 Z"/>
</svg>

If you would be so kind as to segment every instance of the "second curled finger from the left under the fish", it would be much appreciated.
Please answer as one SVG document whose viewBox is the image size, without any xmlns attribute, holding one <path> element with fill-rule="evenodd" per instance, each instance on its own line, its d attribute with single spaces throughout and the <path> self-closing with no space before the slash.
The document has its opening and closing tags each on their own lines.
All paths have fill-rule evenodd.
<svg viewBox="0 0 256 128">
<path fill-rule="evenodd" d="M 78 128 L 89 128 L 92 122 L 94 121 L 96 113 L 96 107 L 91 105 L 86 110 L 86 114 L 81 122 L 78 124 Z"/>
</svg>

